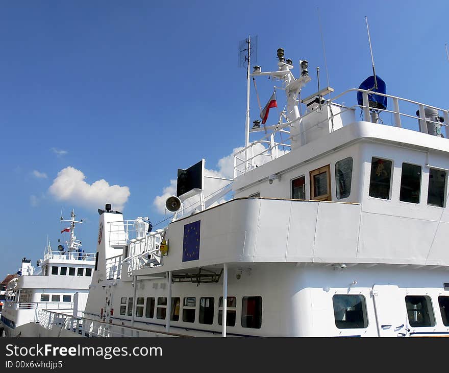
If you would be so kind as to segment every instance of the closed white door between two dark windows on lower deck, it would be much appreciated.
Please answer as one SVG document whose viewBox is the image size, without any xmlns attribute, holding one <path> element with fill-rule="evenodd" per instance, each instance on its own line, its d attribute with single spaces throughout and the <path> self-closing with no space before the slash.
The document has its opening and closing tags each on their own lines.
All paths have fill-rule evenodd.
<svg viewBox="0 0 449 373">
<path fill-rule="evenodd" d="M 372 299 L 380 337 L 406 337 L 407 309 L 404 291 L 396 285 L 374 285 Z"/>
</svg>

